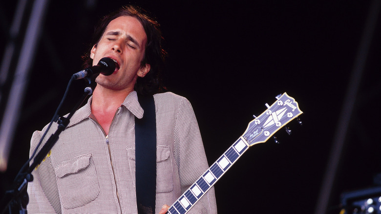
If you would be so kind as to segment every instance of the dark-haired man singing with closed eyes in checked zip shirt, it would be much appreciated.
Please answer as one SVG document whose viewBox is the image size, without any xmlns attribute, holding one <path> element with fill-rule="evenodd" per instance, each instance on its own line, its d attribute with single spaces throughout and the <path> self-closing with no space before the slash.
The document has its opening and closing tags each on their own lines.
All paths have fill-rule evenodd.
<svg viewBox="0 0 381 214">
<path fill-rule="evenodd" d="M 133 6 L 100 21 L 84 66 L 107 57 L 116 68 L 111 75 L 96 78 L 92 97 L 76 111 L 51 154 L 33 171 L 28 213 L 164 214 L 209 168 L 191 104 L 171 92 L 162 93 L 159 74 L 165 51 L 158 26 Z M 139 103 L 140 95 L 154 100 L 154 210 L 137 202 L 135 139 L 140 137 L 135 129 L 147 112 Z M 34 132 L 31 152 L 46 128 Z M 189 211 L 216 213 L 213 188 Z"/>
</svg>

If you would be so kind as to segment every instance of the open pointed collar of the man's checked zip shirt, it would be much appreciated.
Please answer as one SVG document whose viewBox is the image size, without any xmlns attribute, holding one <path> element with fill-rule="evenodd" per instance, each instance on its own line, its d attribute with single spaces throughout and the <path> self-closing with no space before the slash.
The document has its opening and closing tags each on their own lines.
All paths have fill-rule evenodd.
<svg viewBox="0 0 381 214">
<path fill-rule="evenodd" d="M 74 115 L 70 119 L 70 123 L 67 127 L 73 126 L 86 118 L 89 118 L 91 115 L 91 101 L 92 101 L 92 96 L 88 99 L 87 103 L 85 106 L 81 107 L 78 109 Z M 132 91 L 129 93 L 126 97 L 126 99 L 123 101 L 121 107 L 126 107 L 135 117 L 141 119 L 144 114 L 143 108 L 140 106 L 139 101 L 138 101 L 138 95 L 136 91 Z M 65 115 L 67 117 L 67 115 Z"/>
</svg>

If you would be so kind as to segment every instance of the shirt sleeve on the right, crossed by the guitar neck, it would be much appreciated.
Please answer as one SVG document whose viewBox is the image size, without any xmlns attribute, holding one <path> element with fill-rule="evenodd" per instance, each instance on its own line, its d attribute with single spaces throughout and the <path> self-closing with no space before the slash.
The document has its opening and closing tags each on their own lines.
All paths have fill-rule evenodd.
<svg viewBox="0 0 381 214">
<path fill-rule="evenodd" d="M 175 129 L 175 156 L 179 166 L 181 193 L 209 169 L 197 120 L 190 102 L 184 98 L 180 105 Z M 217 214 L 212 187 L 188 214 Z"/>
</svg>

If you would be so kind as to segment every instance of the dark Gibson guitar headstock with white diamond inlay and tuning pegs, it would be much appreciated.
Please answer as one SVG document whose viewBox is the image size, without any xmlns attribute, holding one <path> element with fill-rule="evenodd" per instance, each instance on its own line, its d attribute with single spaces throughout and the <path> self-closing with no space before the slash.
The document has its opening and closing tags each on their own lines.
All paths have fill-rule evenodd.
<svg viewBox="0 0 381 214">
<path fill-rule="evenodd" d="M 266 142 L 277 130 L 284 127 L 303 112 L 294 98 L 283 93 L 267 110 L 249 123 L 242 137 L 250 146 Z"/>
</svg>

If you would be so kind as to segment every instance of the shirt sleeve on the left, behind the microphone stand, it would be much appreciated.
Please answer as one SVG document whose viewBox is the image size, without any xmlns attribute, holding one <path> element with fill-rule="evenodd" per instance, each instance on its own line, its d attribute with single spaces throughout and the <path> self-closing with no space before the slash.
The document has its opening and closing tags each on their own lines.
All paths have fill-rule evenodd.
<svg viewBox="0 0 381 214">
<path fill-rule="evenodd" d="M 35 131 L 31 139 L 30 154 L 41 139 L 41 131 Z M 32 171 L 33 181 L 28 183 L 28 214 L 61 214 L 57 182 L 50 157 Z"/>
</svg>

